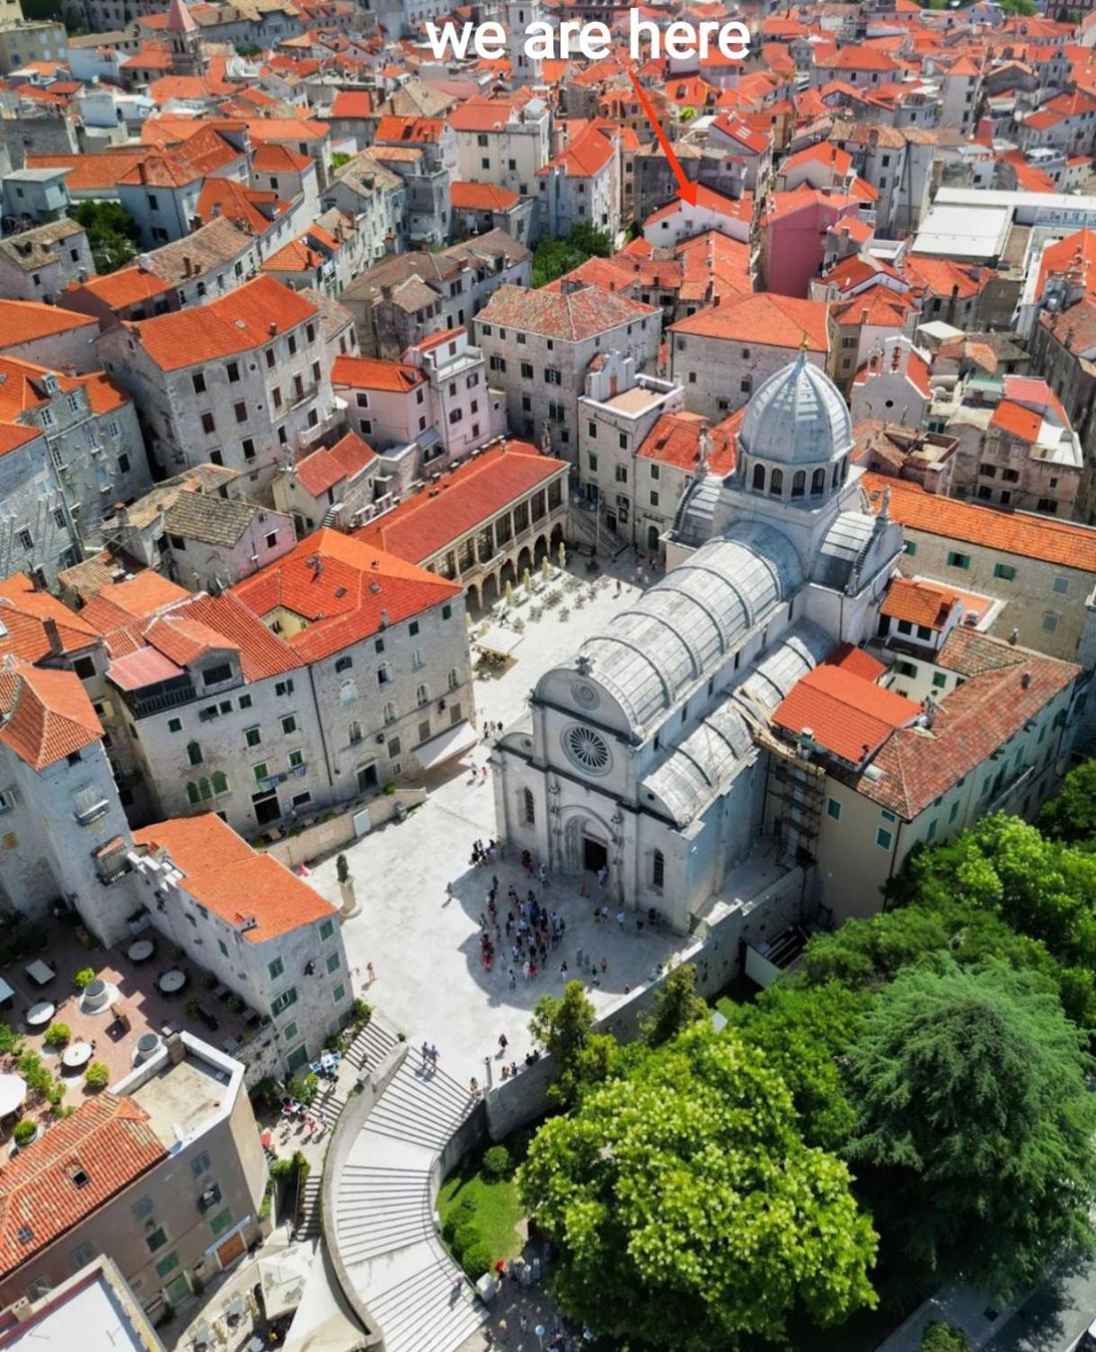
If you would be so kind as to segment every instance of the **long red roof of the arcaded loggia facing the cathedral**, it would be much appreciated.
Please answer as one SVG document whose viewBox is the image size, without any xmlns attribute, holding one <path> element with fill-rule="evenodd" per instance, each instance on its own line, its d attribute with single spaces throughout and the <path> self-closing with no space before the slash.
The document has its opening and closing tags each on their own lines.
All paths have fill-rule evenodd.
<svg viewBox="0 0 1096 1352">
<path fill-rule="evenodd" d="M 424 562 L 557 475 L 565 461 L 511 441 L 466 460 L 437 485 L 422 488 L 354 533 L 401 558 Z"/>
</svg>

